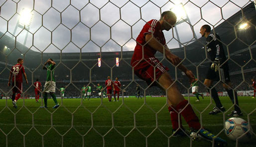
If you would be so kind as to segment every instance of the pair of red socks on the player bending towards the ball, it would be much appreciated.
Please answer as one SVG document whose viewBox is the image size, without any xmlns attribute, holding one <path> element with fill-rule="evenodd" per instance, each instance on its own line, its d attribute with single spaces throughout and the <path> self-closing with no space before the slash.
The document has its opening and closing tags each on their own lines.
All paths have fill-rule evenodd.
<svg viewBox="0 0 256 147">
<path fill-rule="evenodd" d="M 193 128 L 195 130 L 199 130 L 201 128 L 201 124 L 199 122 L 198 117 L 196 116 L 194 110 L 192 109 L 191 105 L 188 104 L 187 100 L 181 101 L 177 106 L 176 106 L 176 111 L 172 107 L 168 107 L 170 115 L 171 115 L 171 123 L 172 123 L 172 128 L 173 129 L 178 129 L 179 128 L 179 121 L 178 121 L 178 113 L 182 111 L 180 114 L 184 117 L 186 120 L 188 126 L 190 128 Z M 180 124 L 181 124 L 181 118 L 180 118 Z M 182 124 L 181 124 L 182 127 Z"/>
</svg>

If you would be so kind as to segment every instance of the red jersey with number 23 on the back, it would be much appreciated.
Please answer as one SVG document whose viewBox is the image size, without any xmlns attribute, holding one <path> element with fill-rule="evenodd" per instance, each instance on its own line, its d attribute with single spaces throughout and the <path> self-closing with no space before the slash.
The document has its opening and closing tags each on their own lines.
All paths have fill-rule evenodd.
<svg viewBox="0 0 256 147">
<path fill-rule="evenodd" d="M 16 82 L 19 82 L 19 83 L 23 82 L 22 74 L 25 73 L 23 65 L 21 65 L 21 64 L 13 65 L 11 67 L 10 73 L 12 74 L 12 82 L 14 82 L 14 77 L 15 77 Z"/>
</svg>

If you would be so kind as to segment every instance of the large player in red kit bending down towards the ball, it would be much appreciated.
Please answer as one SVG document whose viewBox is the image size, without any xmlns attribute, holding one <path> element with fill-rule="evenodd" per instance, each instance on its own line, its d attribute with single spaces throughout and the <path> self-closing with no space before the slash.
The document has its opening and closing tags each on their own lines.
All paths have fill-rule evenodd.
<svg viewBox="0 0 256 147">
<path fill-rule="evenodd" d="M 136 38 L 136 46 L 131 58 L 131 66 L 134 73 L 140 79 L 146 81 L 148 85 L 158 86 L 166 91 L 167 101 L 170 105 L 168 109 L 171 115 L 174 136 L 186 136 L 181 119 L 178 117 L 181 114 L 191 128 L 190 137 L 198 138 L 201 136 L 208 141 L 214 140 L 215 144 L 225 146 L 227 144 L 226 141 L 214 136 L 201 127 L 192 106 L 180 94 L 176 84 L 167 72 L 168 68 L 160 63 L 154 56 L 156 51 L 160 51 L 167 60 L 187 75 L 191 83 L 195 81 L 192 71 L 188 70 L 180 63 L 181 59 L 172 54 L 165 43 L 162 31 L 169 31 L 176 23 L 176 20 L 177 17 L 172 11 L 165 11 L 161 14 L 159 21 L 152 19 L 143 26 Z"/>
</svg>

